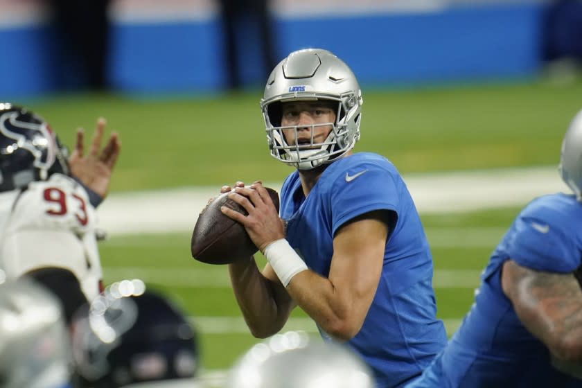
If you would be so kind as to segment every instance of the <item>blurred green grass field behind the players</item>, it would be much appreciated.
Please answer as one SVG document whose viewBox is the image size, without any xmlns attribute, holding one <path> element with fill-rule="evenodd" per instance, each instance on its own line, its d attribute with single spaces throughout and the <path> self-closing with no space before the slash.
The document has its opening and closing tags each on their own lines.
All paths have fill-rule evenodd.
<svg viewBox="0 0 582 388">
<path fill-rule="evenodd" d="M 403 173 L 555 165 L 567 123 L 582 107 L 581 82 L 363 92 L 362 139 L 356 150 L 385 155 Z M 51 122 L 68 145 L 77 126 L 92 130 L 95 119 L 105 116 L 108 129 L 120 132 L 123 143 L 112 183 L 118 192 L 218 188 L 237 179 L 281 181 L 290 169 L 268 155 L 260 95 L 57 96 L 24 103 Z M 448 322 L 448 330 L 468 310 L 479 272 L 518 210 L 422 215 L 434 256 L 439 317 Z M 436 238 L 449 231 L 459 241 L 465 235 L 482 238 L 462 246 L 450 243 L 455 238 Z M 166 292 L 200 329 L 202 366 L 227 369 L 257 340 L 240 326 L 227 267 L 195 262 L 189 239 L 117 236 L 100 243 L 105 281 L 140 277 Z M 299 310 L 293 318 L 301 327 L 308 322 Z"/>
</svg>

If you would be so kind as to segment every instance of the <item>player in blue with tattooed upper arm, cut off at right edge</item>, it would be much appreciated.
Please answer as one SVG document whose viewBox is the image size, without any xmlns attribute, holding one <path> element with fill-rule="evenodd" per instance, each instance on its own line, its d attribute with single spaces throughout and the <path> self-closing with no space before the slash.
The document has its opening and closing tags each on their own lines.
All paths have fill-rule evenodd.
<svg viewBox="0 0 582 388">
<path fill-rule="evenodd" d="M 461 327 L 410 387 L 582 387 L 582 111 L 560 171 L 574 195 L 538 197 L 520 212 Z"/>
</svg>

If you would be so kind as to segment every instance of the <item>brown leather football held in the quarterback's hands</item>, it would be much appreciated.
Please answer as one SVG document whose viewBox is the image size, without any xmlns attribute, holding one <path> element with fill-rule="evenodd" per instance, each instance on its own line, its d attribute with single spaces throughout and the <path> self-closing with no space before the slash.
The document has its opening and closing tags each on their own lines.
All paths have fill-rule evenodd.
<svg viewBox="0 0 582 388">
<path fill-rule="evenodd" d="M 271 200 L 279 211 L 279 193 L 272 188 L 265 187 Z M 222 214 L 221 206 L 228 206 L 238 213 L 247 215 L 233 200 L 229 193 L 222 193 L 215 197 L 198 215 L 198 220 L 192 232 L 192 257 L 197 261 L 209 264 L 228 264 L 234 261 L 247 259 L 257 252 L 243 224 Z"/>
</svg>

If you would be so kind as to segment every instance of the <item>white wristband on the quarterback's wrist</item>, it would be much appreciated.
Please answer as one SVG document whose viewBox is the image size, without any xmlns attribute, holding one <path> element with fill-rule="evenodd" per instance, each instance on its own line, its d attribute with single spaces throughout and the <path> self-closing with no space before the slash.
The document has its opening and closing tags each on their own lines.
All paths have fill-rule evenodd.
<svg viewBox="0 0 582 388">
<path fill-rule="evenodd" d="M 291 278 L 307 270 L 307 265 L 285 238 L 275 240 L 265 248 L 265 258 L 285 287 Z"/>
</svg>

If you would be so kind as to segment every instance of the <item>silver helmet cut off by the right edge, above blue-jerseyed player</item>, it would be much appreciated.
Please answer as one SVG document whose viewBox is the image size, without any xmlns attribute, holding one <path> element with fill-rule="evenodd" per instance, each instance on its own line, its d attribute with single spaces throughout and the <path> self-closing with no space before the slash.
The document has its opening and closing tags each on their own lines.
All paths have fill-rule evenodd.
<svg viewBox="0 0 582 388">
<path fill-rule="evenodd" d="M 582 110 L 574 116 L 562 142 L 560 175 L 582 202 Z"/>
</svg>

